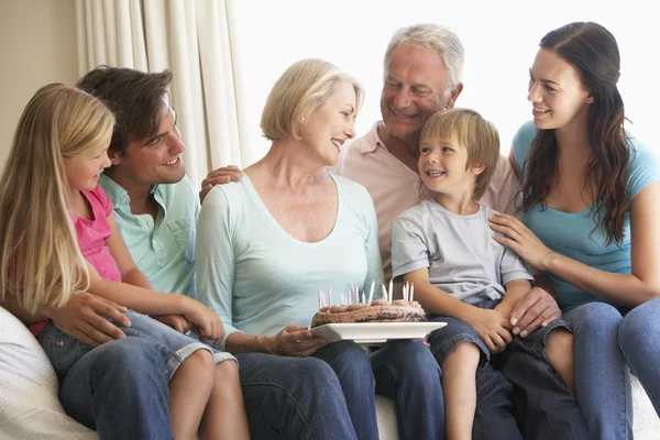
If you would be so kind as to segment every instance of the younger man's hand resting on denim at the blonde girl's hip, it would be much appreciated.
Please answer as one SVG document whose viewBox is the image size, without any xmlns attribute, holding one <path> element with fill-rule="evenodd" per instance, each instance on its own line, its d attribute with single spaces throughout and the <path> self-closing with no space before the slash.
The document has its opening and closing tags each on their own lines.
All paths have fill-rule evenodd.
<svg viewBox="0 0 660 440">
<path fill-rule="evenodd" d="M 127 337 L 114 323 L 103 318 L 122 327 L 131 327 L 124 311 L 125 307 L 85 292 L 73 295 L 66 305 L 53 308 L 50 315 L 57 328 L 66 334 L 87 345 L 98 346 Z"/>
</svg>

